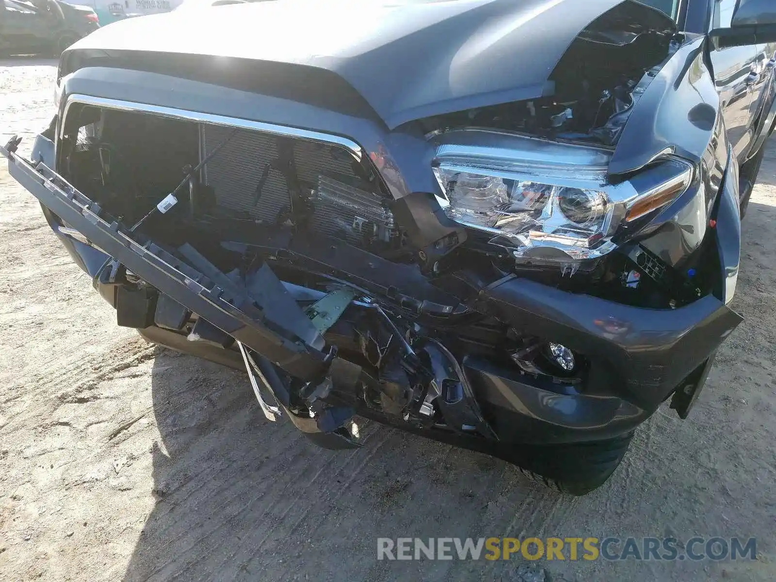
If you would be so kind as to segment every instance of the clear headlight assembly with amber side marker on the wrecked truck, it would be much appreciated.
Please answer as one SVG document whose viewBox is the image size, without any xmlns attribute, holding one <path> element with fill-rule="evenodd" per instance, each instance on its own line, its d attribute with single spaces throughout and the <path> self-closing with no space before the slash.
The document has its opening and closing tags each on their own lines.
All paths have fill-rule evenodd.
<svg viewBox="0 0 776 582">
<path fill-rule="evenodd" d="M 666 206 L 693 178 L 691 165 L 667 159 L 615 184 L 607 150 L 486 130 L 435 139 L 445 213 L 493 234 L 491 242 L 515 258 L 565 263 L 604 255 L 619 227 Z"/>
</svg>

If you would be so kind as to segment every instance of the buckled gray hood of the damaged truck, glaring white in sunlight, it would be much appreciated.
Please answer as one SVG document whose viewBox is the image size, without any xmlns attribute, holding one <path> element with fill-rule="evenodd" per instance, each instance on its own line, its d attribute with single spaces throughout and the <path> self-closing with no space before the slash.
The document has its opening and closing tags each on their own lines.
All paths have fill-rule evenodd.
<svg viewBox="0 0 776 582">
<path fill-rule="evenodd" d="M 325 69 L 393 129 L 553 93 L 574 38 L 621 0 L 282 0 L 105 26 L 72 50 L 203 54 Z M 643 7 L 641 7 L 643 8 Z"/>
</svg>

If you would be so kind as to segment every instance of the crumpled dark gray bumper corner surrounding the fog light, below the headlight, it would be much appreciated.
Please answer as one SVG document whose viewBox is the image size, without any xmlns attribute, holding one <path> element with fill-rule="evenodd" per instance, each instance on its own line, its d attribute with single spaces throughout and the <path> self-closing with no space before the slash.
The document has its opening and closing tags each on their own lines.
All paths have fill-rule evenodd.
<svg viewBox="0 0 776 582">
<path fill-rule="evenodd" d="M 552 338 L 590 361 L 579 391 L 481 359 L 464 362 L 499 435 L 516 442 L 596 440 L 632 430 L 677 387 L 696 393 L 694 375 L 742 318 L 714 296 L 674 310 L 631 307 L 566 293 L 510 275 L 484 289 L 479 308 L 527 334 Z M 691 386 L 688 388 L 688 383 Z M 694 400 L 694 399 L 693 399 Z M 691 404 L 692 400 L 688 402 Z M 685 417 L 688 404 L 674 400 Z M 521 422 L 514 422 L 519 415 Z"/>
</svg>

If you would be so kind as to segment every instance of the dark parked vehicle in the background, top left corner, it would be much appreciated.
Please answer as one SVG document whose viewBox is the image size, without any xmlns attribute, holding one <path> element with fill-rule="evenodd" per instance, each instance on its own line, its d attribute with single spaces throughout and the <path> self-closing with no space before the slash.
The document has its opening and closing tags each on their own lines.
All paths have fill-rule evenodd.
<svg viewBox="0 0 776 582">
<path fill-rule="evenodd" d="M 89 6 L 60 0 L 0 1 L 5 8 L 0 12 L 0 54 L 59 57 L 72 43 L 99 29 L 97 13 Z"/>
</svg>

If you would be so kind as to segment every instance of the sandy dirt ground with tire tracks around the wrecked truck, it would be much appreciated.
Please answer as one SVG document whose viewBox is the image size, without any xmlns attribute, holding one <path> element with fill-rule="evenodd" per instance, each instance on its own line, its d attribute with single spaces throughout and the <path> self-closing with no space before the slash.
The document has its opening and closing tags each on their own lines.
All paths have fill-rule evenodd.
<svg viewBox="0 0 776 582">
<path fill-rule="evenodd" d="M 0 61 L 32 144 L 52 61 Z M 265 421 L 246 376 L 147 345 L 0 164 L 0 580 L 776 580 L 776 144 L 744 221 L 729 338 L 687 421 L 663 408 L 567 497 L 370 424 L 355 452 Z M 757 537 L 746 562 L 378 562 L 378 537 Z"/>
</svg>

